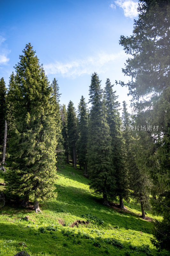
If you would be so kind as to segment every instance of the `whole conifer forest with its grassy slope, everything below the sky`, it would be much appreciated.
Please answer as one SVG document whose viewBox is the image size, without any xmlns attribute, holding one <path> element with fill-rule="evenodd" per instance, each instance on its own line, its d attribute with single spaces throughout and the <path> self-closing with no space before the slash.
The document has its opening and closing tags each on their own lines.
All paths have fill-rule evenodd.
<svg viewBox="0 0 170 256">
<path fill-rule="evenodd" d="M 170 1 L 139 2 L 127 83 L 61 104 L 31 43 L 0 78 L 0 256 L 170 255 Z"/>
</svg>

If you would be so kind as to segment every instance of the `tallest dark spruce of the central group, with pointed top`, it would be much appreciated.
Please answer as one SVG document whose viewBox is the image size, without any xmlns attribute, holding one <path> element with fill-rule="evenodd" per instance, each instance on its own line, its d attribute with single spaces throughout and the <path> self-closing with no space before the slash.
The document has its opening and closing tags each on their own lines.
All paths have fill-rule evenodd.
<svg viewBox="0 0 170 256">
<path fill-rule="evenodd" d="M 115 191 L 115 169 L 100 83 L 99 76 L 96 73 L 92 74 L 89 88 L 89 102 L 92 107 L 88 127 L 87 166 L 91 180 L 90 188 L 102 194 L 104 204 L 108 205 L 107 198 Z"/>
</svg>

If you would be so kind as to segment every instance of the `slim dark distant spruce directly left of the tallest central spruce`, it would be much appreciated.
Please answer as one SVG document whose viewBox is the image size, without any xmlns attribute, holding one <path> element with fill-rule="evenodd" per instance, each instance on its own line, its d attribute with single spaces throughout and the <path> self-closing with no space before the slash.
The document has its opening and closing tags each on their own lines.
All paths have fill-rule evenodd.
<svg viewBox="0 0 170 256">
<path fill-rule="evenodd" d="M 87 128 L 88 128 L 88 116 L 87 116 L 87 104 L 85 103 L 85 98 L 81 96 L 80 103 L 78 105 L 78 162 L 81 166 L 85 168 L 86 173 L 86 154 L 87 154 Z"/>
</svg>

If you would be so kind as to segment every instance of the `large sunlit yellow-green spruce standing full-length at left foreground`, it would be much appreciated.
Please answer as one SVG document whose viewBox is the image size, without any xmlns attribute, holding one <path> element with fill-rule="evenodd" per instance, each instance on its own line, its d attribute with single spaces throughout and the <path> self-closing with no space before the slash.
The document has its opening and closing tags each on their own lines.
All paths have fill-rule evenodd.
<svg viewBox="0 0 170 256">
<path fill-rule="evenodd" d="M 16 75 L 9 89 L 13 103 L 11 116 L 15 124 L 9 143 L 11 170 L 5 177 L 7 191 L 22 196 L 23 206 L 34 196 L 34 209 L 39 200 L 54 196 L 55 107 L 52 88 L 31 44 L 26 44 Z M 12 75 L 13 76 L 13 75 Z M 12 79 L 12 77 L 11 77 Z"/>
</svg>

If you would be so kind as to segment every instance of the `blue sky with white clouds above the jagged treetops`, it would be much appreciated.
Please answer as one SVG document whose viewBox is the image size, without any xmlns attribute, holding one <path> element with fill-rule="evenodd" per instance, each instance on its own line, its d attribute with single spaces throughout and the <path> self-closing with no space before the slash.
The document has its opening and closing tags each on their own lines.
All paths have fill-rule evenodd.
<svg viewBox="0 0 170 256">
<path fill-rule="evenodd" d="M 88 102 L 92 73 L 112 84 L 127 81 L 122 68 L 128 56 L 119 45 L 130 36 L 137 19 L 137 0 L 60 0 L 0 2 L 0 77 L 6 85 L 19 55 L 29 42 L 50 82 L 56 78 L 61 104 L 72 100 L 77 108 L 81 95 Z M 114 86 L 119 101 L 128 89 Z"/>
</svg>

